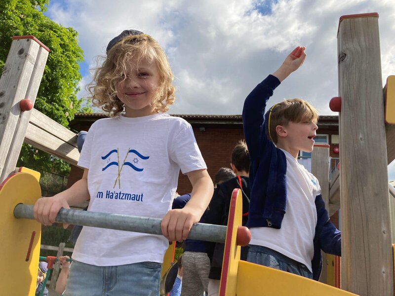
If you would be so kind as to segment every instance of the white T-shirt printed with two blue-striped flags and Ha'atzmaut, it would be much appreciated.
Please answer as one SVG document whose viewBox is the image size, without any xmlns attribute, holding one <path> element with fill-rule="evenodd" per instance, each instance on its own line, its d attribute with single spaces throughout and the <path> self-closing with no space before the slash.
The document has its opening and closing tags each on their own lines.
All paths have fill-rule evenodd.
<svg viewBox="0 0 395 296">
<path fill-rule="evenodd" d="M 178 175 L 206 165 L 191 125 L 165 113 L 92 124 L 78 165 L 89 169 L 88 211 L 163 218 Z M 164 236 L 83 226 L 73 259 L 98 265 L 162 262 Z"/>
</svg>

